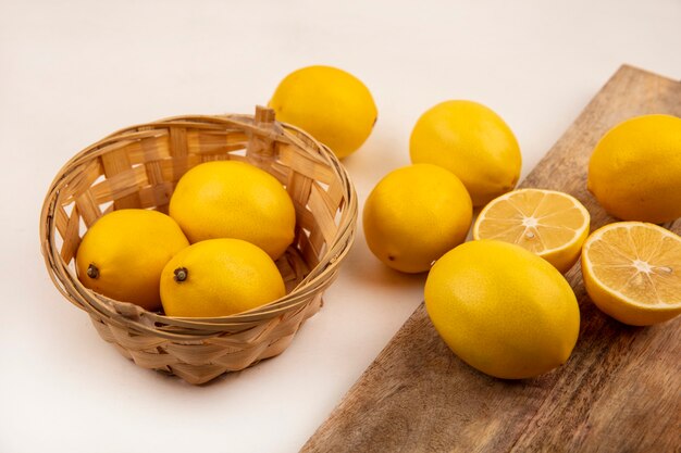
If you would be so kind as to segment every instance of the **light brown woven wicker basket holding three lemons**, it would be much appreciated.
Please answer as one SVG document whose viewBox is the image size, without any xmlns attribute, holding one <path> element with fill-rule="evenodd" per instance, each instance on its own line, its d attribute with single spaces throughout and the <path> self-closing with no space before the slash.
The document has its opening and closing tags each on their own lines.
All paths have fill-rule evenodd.
<svg viewBox="0 0 681 453">
<path fill-rule="evenodd" d="M 268 305 L 215 318 L 176 318 L 85 288 L 74 256 L 87 228 L 124 207 L 168 211 L 179 177 L 213 160 L 250 162 L 274 175 L 296 207 L 296 238 L 276 264 L 287 294 Z M 46 197 L 40 240 L 61 293 L 86 311 L 99 335 L 137 365 L 190 383 L 280 354 L 319 311 L 355 237 L 357 196 L 344 167 L 320 142 L 256 115 L 178 116 L 117 131 L 76 154 Z"/>
</svg>

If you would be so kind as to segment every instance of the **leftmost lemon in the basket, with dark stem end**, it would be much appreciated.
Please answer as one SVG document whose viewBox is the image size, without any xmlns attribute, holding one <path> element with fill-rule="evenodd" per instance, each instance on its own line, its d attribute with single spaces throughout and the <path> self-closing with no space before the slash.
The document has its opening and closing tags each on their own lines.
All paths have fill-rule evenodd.
<svg viewBox="0 0 681 453">
<path fill-rule="evenodd" d="M 76 254 L 78 279 L 111 299 L 146 310 L 161 306 L 159 280 L 165 263 L 189 241 L 165 214 L 120 210 L 100 217 Z"/>
</svg>

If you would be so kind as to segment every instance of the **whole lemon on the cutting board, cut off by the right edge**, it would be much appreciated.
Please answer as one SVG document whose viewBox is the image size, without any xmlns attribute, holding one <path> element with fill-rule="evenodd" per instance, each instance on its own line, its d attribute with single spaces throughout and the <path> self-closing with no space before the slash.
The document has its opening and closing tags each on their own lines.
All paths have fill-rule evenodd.
<svg viewBox="0 0 681 453">
<path fill-rule="evenodd" d="M 681 217 L 681 118 L 645 115 L 615 126 L 591 155 L 587 187 L 623 221 Z"/>
</svg>

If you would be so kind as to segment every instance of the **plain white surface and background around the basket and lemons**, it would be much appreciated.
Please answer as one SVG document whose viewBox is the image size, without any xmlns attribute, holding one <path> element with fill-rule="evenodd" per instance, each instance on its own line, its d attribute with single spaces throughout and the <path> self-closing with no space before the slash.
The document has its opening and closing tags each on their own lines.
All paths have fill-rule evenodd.
<svg viewBox="0 0 681 453">
<path fill-rule="evenodd" d="M 294 452 L 422 299 L 361 225 L 324 309 L 281 356 L 191 387 L 136 367 L 61 298 L 39 252 L 47 188 L 121 127 L 250 113 L 288 72 L 331 64 L 379 105 L 345 161 L 360 207 L 447 99 L 499 113 L 523 176 L 621 63 L 681 78 L 681 1 L 0 0 L 0 452 Z"/>
</svg>

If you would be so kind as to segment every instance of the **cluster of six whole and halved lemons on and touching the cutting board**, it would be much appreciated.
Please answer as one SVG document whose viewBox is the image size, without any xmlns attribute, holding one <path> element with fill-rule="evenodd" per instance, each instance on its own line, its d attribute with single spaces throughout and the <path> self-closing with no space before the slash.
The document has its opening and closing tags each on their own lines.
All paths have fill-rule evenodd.
<svg viewBox="0 0 681 453">
<path fill-rule="evenodd" d="M 561 273 L 580 256 L 586 291 L 616 319 L 642 326 L 681 312 L 681 238 L 653 224 L 681 216 L 680 118 L 633 118 L 596 146 L 590 190 L 608 213 L 639 222 L 591 236 L 589 211 L 574 197 L 512 190 L 518 142 L 483 105 L 448 101 L 425 112 L 410 154 L 413 164 L 367 199 L 367 243 L 397 270 L 429 272 L 431 320 L 471 366 L 516 379 L 568 360 L 580 311 Z M 473 206 L 481 207 L 473 241 L 462 243 Z"/>
</svg>

